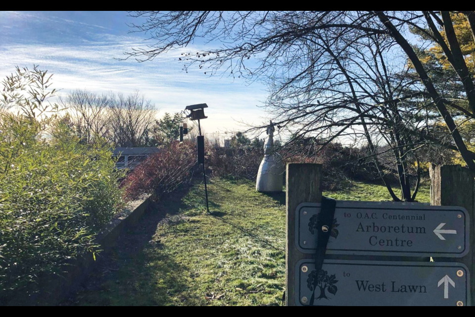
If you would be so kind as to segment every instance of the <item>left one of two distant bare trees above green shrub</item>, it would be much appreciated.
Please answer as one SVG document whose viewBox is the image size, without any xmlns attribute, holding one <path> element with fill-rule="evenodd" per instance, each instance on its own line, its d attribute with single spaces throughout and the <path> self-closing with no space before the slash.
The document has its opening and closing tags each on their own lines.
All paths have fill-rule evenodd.
<svg viewBox="0 0 475 317">
<path fill-rule="evenodd" d="M 75 133 L 82 142 L 91 144 L 96 138 L 108 137 L 111 100 L 107 95 L 76 90 L 61 102 L 67 108 Z"/>
</svg>

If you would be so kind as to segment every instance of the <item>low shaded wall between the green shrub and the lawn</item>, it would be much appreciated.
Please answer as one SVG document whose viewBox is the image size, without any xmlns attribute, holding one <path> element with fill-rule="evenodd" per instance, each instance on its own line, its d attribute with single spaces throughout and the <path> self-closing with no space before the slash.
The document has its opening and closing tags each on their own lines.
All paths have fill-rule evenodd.
<svg viewBox="0 0 475 317">
<path fill-rule="evenodd" d="M 119 236 L 133 227 L 150 206 L 151 198 L 130 203 L 123 211 L 114 216 L 104 230 L 97 235 L 96 242 L 102 250 L 114 246 Z M 54 306 L 64 301 L 89 276 L 95 264 L 101 261 L 100 255 L 94 261 L 92 254 L 84 255 L 69 263 L 61 275 L 40 276 L 38 282 L 28 290 L 16 294 L 7 306 Z"/>
</svg>

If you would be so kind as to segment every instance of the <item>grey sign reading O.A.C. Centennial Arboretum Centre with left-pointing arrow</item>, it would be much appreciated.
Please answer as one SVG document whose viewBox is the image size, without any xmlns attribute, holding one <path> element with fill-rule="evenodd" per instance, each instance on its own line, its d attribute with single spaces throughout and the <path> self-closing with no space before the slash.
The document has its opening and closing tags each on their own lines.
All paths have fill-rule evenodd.
<svg viewBox="0 0 475 317">
<path fill-rule="evenodd" d="M 316 251 L 319 212 L 320 204 L 297 207 L 295 244 L 302 253 Z M 338 201 L 327 254 L 462 258 L 469 223 L 461 207 Z"/>
</svg>

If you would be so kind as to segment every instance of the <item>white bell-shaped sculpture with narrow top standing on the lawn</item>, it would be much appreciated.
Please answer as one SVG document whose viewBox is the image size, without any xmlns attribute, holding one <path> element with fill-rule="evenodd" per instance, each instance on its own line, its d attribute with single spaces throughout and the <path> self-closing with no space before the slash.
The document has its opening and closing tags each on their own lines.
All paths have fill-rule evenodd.
<svg viewBox="0 0 475 317">
<path fill-rule="evenodd" d="M 264 159 L 257 173 L 256 190 L 263 193 L 282 192 L 284 186 L 284 163 L 274 148 L 274 132 L 272 123 L 267 127 L 269 138 L 264 144 Z"/>
</svg>

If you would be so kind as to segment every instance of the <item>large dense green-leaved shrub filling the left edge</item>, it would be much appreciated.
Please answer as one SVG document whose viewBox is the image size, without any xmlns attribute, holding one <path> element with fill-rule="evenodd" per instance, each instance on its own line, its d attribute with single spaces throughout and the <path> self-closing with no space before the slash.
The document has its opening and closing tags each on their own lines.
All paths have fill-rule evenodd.
<svg viewBox="0 0 475 317">
<path fill-rule="evenodd" d="M 122 207 L 109 148 L 81 145 L 61 123 L 45 137 L 37 120 L 0 120 L 0 300 L 59 274 L 98 246 L 95 233 Z"/>
</svg>

